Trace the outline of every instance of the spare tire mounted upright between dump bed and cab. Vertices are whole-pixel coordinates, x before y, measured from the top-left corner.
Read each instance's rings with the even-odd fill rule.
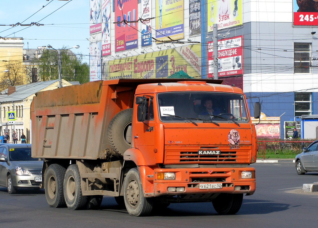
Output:
[[[133,109],[128,108],[117,113],[108,125],[108,141],[113,151],[123,156],[131,148],[131,123]]]

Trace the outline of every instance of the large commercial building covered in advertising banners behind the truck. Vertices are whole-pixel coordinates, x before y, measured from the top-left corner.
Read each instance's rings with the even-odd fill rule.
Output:
[[[280,117],[286,138],[286,122],[301,132],[301,116],[318,114],[315,9],[312,0],[90,1],[90,80],[165,78],[179,70],[213,79],[218,24],[219,79],[259,97],[266,116]]]

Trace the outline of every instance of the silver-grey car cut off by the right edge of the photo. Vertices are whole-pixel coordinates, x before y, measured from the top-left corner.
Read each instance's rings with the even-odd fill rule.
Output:
[[[312,142],[302,153],[295,157],[297,174],[303,175],[308,171],[318,171],[318,140]]]

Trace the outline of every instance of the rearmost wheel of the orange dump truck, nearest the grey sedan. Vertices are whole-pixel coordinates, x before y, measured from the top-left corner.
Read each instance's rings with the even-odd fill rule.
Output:
[[[63,182],[66,169],[59,164],[50,165],[45,172],[45,197],[50,207],[65,207]]]

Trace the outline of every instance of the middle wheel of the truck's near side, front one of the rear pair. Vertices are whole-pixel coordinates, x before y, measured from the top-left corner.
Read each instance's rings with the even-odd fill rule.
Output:
[[[87,197],[82,195],[79,168],[75,164],[70,165],[66,169],[64,178],[64,196],[66,206],[70,210],[82,209],[87,203]]]

